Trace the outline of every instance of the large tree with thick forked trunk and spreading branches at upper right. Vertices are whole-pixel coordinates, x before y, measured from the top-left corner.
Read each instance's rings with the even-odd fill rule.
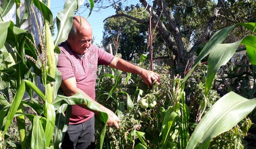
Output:
[[[95,4],[99,10],[110,6],[116,9],[116,14],[105,20],[126,17],[147,26],[148,19],[137,18],[127,12],[138,9],[140,5],[147,12],[152,8],[152,28],[156,27],[170,54],[175,56],[177,68],[184,68],[188,60],[193,63],[197,47],[204,45],[217,30],[231,23],[255,20],[255,0],[155,0],[152,5],[140,0],[140,4],[126,7],[121,0],[110,1],[109,6],[104,7],[102,2],[98,0]]]

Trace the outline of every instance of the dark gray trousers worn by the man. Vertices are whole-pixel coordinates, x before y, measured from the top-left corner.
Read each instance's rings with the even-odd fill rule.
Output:
[[[69,124],[60,149],[92,149],[95,148],[94,115],[86,122]]]

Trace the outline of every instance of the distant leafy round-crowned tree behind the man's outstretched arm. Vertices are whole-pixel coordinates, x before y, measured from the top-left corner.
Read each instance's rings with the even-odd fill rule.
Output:
[[[147,12],[136,13],[132,11],[128,14],[141,19],[147,17]],[[148,28],[145,24],[140,25],[136,21],[126,17],[110,18],[105,22],[102,40],[103,46],[113,43],[112,38],[116,38],[119,29],[121,29],[119,35],[120,46],[117,52],[122,54],[122,58],[131,60],[133,59],[134,53],[143,54],[145,43],[147,42],[145,39],[147,39]],[[113,50],[116,50],[115,47],[113,47]]]

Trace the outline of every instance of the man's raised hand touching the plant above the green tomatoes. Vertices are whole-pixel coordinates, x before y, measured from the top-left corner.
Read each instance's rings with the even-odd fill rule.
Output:
[[[154,82],[160,83],[160,76],[153,71],[142,69],[140,72],[142,80],[149,86],[152,87]]]

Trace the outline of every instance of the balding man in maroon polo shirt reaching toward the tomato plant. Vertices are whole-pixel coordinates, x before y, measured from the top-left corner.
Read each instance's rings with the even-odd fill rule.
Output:
[[[97,66],[108,65],[124,72],[139,74],[148,86],[151,86],[153,82],[160,82],[160,76],[114,57],[91,43],[92,28],[90,24],[81,17],[80,27],[80,17],[73,17],[73,26],[69,32],[68,40],[60,44],[61,53],[57,64],[62,73],[60,87],[66,96],[72,96],[78,92],[83,93],[108,114],[107,126],[114,125],[118,129],[120,121],[116,114],[95,101]],[[62,149],[95,148],[94,113],[97,114],[95,111],[89,111],[85,103],[72,106],[72,115],[61,145]]]

